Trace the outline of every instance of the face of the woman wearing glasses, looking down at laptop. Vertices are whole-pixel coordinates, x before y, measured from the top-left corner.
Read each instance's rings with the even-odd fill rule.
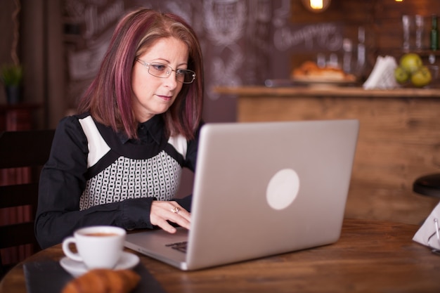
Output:
[[[138,57],[131,72],[132,105],[138,122],[145,122],[154,115],[164,113],[176,100],[182,83],[176,80],[176,72],[160,78],[148,73],[142,63],[161,63],[176,69],[187,69],[188,47],[175,38],[159,39]]]

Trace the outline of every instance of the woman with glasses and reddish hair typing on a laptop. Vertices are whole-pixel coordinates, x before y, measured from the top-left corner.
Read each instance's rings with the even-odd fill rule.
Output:
[[[182,168],[195,170],[202,76],[200,44],[181,18],[145,8],[122,18],[41,171],[41,247],[82,226],[190,227],[191,197],[174,195]]]

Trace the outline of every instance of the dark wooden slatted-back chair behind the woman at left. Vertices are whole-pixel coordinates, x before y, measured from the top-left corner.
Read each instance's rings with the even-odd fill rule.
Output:
[[[0,249],[9,259],[8,262],[4,257],[2,261],[0,254],[0,277],[40,250],[34,234],[38,181],[51,150],[54,132],[0,132]]]

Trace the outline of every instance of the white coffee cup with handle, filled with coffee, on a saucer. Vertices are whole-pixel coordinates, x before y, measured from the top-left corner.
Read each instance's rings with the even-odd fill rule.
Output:
[[[124,249],[126,231],[115,226],[90,226],[75,231],[63,241],[64,254],[87,268],[114,268]],[[78,253],[70,250],[75,243]]]

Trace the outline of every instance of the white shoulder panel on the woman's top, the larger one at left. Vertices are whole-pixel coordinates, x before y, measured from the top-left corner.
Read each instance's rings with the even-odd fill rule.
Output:
[[[79,119],[79,123],[88,141],[89,155],[87,156],[87,168],[90,168],[110,150],[110,147],[105,143],[91,116]]]

